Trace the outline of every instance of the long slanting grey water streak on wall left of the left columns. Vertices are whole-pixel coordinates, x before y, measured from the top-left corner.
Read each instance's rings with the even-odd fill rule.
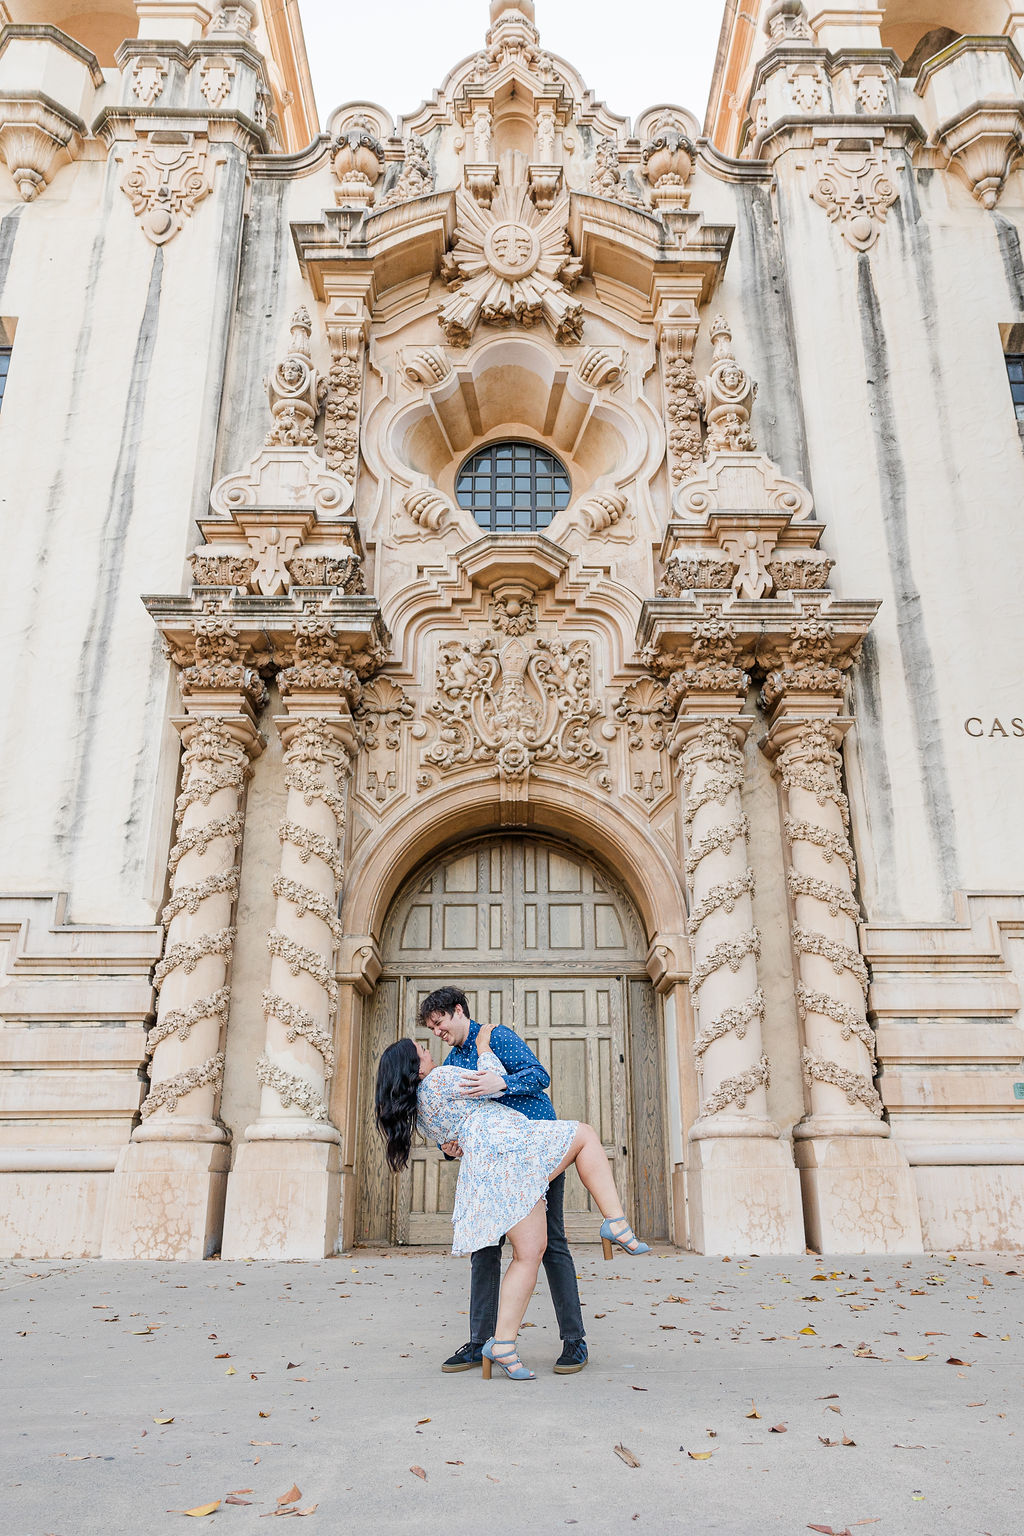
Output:
[[[106,670],[111,660],[111,630],[121,593],[121,576],[124,561],[124,541],[135,507],[135,472],[138,467],[138,452],[143,439],[143,422],[146,419],[146,395],[149,376],[157,346],[157,329],[160,321],[160,290],[163,283],[164,257],[163,247],[154,250],[154,264],[149,275],[149,290],[146,306],[135,341],[132,358],[132,373],[124,404],[124,419],[121,425],[121,444],[114,468],[111,485],[111,501],[100,533],[100,551],[103,564],[98,574],[97,596],[89,613],[86,639],[81,650],[81,662],[75,679],[75,697],[86,717],[97,710],[97,700],[103,690]],[[57,840],[64,842],[78,826],[89,797],[89,779],[92,770],[92,751],[95,745],[94,733],[80,739],[72,768],[72,786],[68,796],[66,811],[60,819]]]

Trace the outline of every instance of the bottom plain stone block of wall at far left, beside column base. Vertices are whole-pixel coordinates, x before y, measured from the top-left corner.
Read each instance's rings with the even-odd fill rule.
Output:
[[[98,1258],[111,1172],[0,1175],[0,1258]]]

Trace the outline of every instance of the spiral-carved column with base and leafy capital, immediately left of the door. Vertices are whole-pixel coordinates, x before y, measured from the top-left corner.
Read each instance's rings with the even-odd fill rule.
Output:
[[[273,882],[256,1061],[259,1117],[246,1130],[227,1193],[226,1258],[324,1258],[338,1241],[341,1135],[329,1118],[342,937],[345,796],[359,680],[330,621],[302,621],[293,665],[279,674],[289,713],[276,720],[289,790]]]

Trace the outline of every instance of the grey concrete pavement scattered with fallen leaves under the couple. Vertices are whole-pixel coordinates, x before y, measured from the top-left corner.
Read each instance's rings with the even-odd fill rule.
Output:
[[[542,1286],[522,1385],[441,1375],[438,1252],[9,1263],[0,1528],[1024,1531],[1024,1255],[577,1261],[591,1366],[551,1373]]]

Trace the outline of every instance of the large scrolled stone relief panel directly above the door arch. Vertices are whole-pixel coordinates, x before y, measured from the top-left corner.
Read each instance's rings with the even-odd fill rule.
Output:
[[[588,771],[603,762],[590,734],[600,714],[590,641],[445,641],[427,713],[439,731],[424,760],[444,771],[490,763],[502,782],[525,782],[540,763]]]

